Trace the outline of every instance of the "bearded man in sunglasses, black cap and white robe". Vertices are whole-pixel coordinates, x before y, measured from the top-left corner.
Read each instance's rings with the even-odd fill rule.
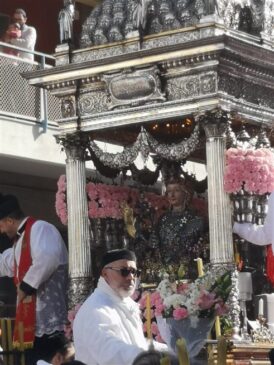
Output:
[[[136,256],[126,249],[109,251],[101,267],[98,286],[74,321],[76,359],[87,365],[130,365],[148,349],[139,307],[130,298],[139,275]],[[158,342],[154,345],[168,350]]]

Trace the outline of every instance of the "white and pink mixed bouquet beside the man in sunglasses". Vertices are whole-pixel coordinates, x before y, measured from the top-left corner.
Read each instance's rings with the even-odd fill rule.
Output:
[[[193,283],[172,283],[166,276],[157,287],[153,309],[156,316],[175,320],[224,315],[230,290],[230,271],[208,271]]]

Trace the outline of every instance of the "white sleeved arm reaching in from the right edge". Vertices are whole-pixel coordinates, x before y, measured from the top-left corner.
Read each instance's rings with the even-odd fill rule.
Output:
[[[255,245],[272,244],[274,252],[274,193],[268,200],[268,213],[263,226],[251,223],[234,223],[233,232]]]

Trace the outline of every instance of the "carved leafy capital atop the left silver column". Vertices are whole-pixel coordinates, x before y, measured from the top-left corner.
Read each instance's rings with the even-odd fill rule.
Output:
[[[85,160],[86,148],[89,144],[89,137],[82,132],[73,134],[65,134],[55,136],[57,143],[59,143],[65,150],[69,160]]]

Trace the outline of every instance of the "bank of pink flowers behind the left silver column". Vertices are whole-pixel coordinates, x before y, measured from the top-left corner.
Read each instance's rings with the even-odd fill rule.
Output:
[[[67,204],[66,204],[66,176],[60,176],[56,193],[55,208],[58,217],[63,224],[67,224]],[[140,192],[128,186],[115,186],[107,184],[95,184],[88,182],[86,185],[88,197],[89,218],[113,218],[122,219],[124,202],[134,208],[140,200]],[[168,201],[164,196],[145,192],[144,199],[152,206],[157,216],[160,216],[168,207]]]

